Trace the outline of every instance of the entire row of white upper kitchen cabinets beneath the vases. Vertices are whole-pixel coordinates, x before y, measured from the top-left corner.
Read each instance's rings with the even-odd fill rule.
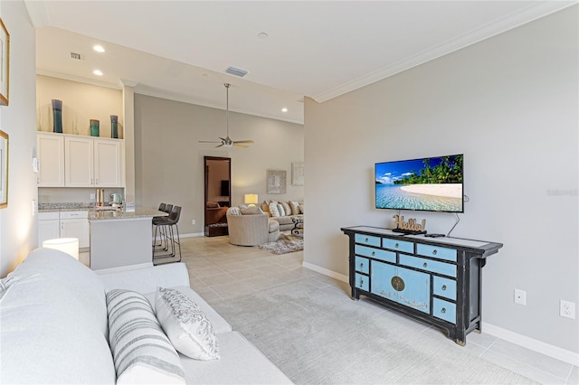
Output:
[[[41,187],[121,187],[122,140],[39,133]]]

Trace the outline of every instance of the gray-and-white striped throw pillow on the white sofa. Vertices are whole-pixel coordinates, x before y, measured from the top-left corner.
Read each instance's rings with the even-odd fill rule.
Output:
[[[179,354],[163,333],[147,298],[130,290],[110,290],[107,310],[117,384],[185,384]]]

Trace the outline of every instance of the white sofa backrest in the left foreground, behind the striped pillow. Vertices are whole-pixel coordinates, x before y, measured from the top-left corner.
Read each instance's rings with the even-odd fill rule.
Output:
[[[104,286],[90,268],[62,251],[36,249],[8,277],[1,383],[115,382]]]

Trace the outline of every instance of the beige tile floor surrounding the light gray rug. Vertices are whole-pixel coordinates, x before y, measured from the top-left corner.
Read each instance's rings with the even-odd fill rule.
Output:
[[[348,284],[302,268],[302,251],[276,256],[259,248],[233,246],[227,237],[181,239],[181,248],[191,286],[209,304],[299,280],[315,279],[349,293]],[[368,305],[374,303],[368,301]],[[486,333],[470,333],[467,341],[465,349],[531,380],[579,384],[577,366]]]

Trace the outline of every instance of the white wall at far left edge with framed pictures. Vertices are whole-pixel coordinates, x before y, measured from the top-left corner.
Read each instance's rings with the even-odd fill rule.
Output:
[[[10,104],[0,107],[0,129],[9,136],[8,207],[0,210],[0,277],[36,247],[36,145],[34,28],[22,1],[2,2],[0,16],[10,33]]]

